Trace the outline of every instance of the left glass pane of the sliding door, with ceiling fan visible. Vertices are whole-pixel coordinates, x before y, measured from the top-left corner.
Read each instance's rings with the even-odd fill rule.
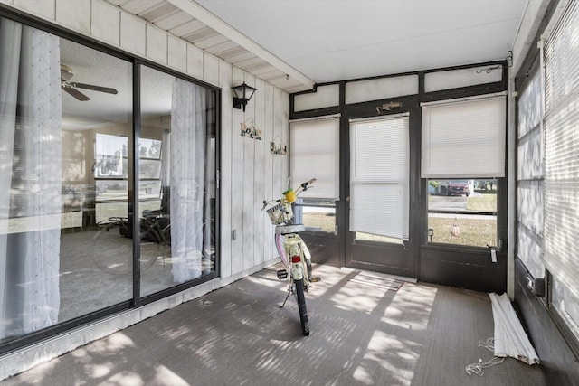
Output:
[[[126,61],[5,18],[0,31],[5,343],[132,296],[129,274],[111,275],[97,264],[102,254],[132,255],[119,231],[97,237],[101,220],[128,217],[122,148],[103,138],[130,135],[132,88]],[[118,94],[68,80],[114,85]]]

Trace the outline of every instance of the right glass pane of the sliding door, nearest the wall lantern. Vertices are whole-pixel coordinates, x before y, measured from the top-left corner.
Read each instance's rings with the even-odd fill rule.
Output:
[[[214,94],[143,67],[141,295],[214,272]]]

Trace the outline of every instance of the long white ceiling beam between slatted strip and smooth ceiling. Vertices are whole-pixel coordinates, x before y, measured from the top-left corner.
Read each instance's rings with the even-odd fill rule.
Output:
[[[241,45],[244,49],[249,52],[253,52],[256,56],[260,57],[262,60],[267,61],[272,66],[276,67],[280,71],[285,72],[290,78],[298,80],[301,84],[306,86],[308,89],[314,89],[316,82],[310,80],[306,75],[302,74],[298,70],[291,67],[285,61],[280,60],[277,56],[261,47],[256,42],[253,42],[250,38],[240,33],[234,29],[231,25],[226,24],[220,18],[211,14],[201,5],[198,5],[193,0],[167,0],[168,3],[175,5],[187,14],[195,17],[195,19],[203,22],[208,27],[214,29],[216,32],[223,34],[227,38],[231,39],[233,42]]]

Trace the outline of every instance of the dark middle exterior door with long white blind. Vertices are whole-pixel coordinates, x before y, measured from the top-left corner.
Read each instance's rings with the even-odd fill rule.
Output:
[[[349,120],[347,267],[415,277],[410,113]]]

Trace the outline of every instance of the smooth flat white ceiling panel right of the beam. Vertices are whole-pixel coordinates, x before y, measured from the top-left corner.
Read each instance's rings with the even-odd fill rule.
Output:
[[[321,83],[503,60],[532,1],[538,0],[196,3]]]

